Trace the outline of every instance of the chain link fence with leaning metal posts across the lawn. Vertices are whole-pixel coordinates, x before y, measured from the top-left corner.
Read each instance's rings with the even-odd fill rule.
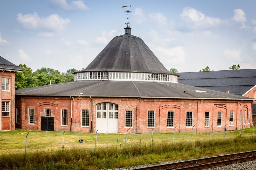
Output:
[[[86,148],[97,149],[101,147],[125,148],[131,145],[151,147],[157,143],[194,142],[196,140],[228,140],[236,138],[243,133],[244,137],[254,137],[254,127],[246,132],[209,132],[209,133],[154,133],[149,129],[147,134],[126,133],[82,133],[67,131],[6,131],[0,133],[0,154],[27,153],[27,152],[52,152],[58,149]],[[113,130],[114,131],[114,130]]]

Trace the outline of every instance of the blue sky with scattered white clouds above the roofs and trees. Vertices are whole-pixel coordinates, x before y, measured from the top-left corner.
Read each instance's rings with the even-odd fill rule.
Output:
[[[33,72],[86,68],[127,22],[124,0],[0,0],[0,56]],[[256,68],[255,0],[130,0],[131,33],[167,70]]]

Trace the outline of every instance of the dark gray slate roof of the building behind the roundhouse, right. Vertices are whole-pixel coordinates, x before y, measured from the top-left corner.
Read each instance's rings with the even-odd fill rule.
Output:
[[[256,85],[256,69],[177,73],[179,83],[244,95]]]

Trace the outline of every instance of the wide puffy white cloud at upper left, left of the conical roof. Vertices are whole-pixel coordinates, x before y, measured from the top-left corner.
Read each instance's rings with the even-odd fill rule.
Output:
[[[17,15],[17,20],[24,27],[29,29],[49,29],[52,31],[62,31],[70,23],[70,19],[63,19],[58,14],[52,14],[46,18],[40,18],[36,12],[34,14]]]

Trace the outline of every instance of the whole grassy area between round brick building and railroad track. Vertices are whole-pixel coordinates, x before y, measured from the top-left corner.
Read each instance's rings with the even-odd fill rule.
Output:
[[[27,154],[25,142],[27,138]],[[240,131],[210,134],[154,133],[151,134],[97,134],[64,133],[60,131],[0,132],[0,169],[109,169],[163,161],[196,159],[213,155],[245,152],[256,149],[252,128]],[[83,143],[78,143],[83,139]]]

